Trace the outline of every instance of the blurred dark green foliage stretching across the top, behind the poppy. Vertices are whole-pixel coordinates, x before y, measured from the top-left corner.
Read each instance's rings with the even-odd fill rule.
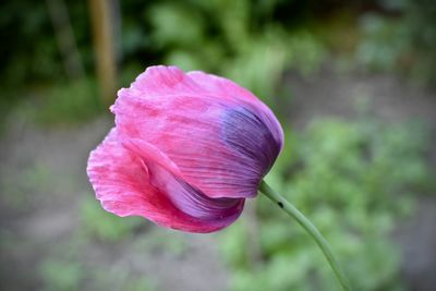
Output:
[[[88,7],[84,1],[64,2],[88,75],[94,72]],[[120,1],[121,34],[117,48],[121,74],[132,72],[132,66],[137,73],[155,63],[205,70],[250,87],[274,105],[277,84],[286,70],[308,74],[327,59],[332,47],[340,45],[354,51],[351,64],[355,61],[370,70],[403,72],[421,83],[435,83],[434,1],[335,3],[331,5],[328,0]],[[68,84],[71,81],[62,65],[47,2],[10,1],[0,8],[0,34],[8,39],[0,48],[2,110],[20,96],[28,96],[26,90],[34,90],[35,84],[47,87],[48,95],[63,95],[49,88],[52,84],[69,92],[82,86]],[[96,95],[88,89],[81,96]],[[72,102],[77,102],[77,98],[82,97],[73,98]],[[47,110],[64,111],[62,104],[58,109],[51,108],[51,100],[47,102]],[[82,117],[78,114],[76,119]],[[57,119],[47,117],[47,120]]]

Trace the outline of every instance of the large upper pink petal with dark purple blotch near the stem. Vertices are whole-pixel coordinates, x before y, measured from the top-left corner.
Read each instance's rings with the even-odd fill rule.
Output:
[[[281,128],[245,89],[198,76],[147,69],[111,108],[119,134],[154,145],[209,197],[253,197],[281,150]]]

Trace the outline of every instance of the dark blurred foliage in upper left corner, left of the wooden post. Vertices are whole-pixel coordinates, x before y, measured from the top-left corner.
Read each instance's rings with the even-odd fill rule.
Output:
[[[87,5],[85,2],[65,2],[78,46],[89,65],[88,17],[84,16]],[[19,86],[65,76],[45,1],[8,2],[1,5],[0,15],[0,34],[9,43],[0,48],[4,62],[0,69],[2,84]]]

